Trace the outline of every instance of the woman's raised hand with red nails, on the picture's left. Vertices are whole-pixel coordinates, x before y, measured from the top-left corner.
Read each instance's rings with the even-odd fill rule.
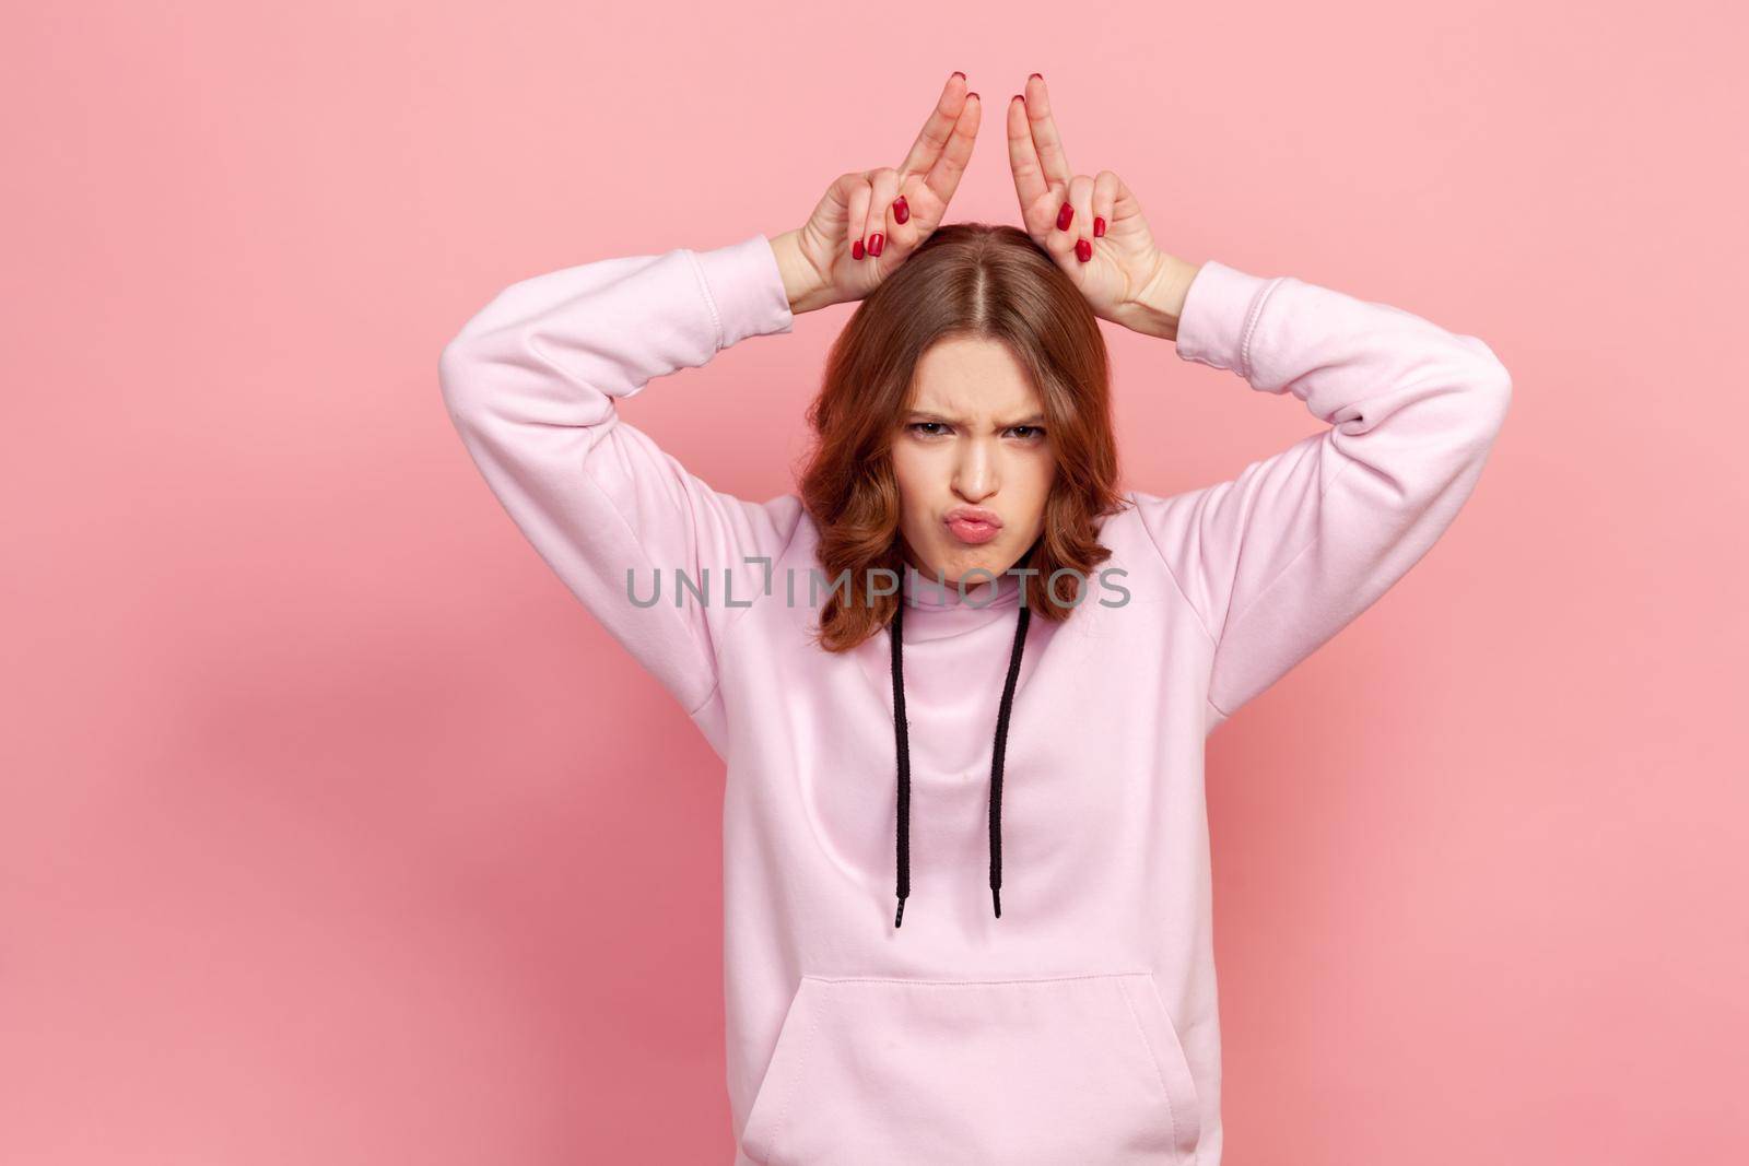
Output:
[[[792,313],[862,299],[941,226],[972,156],[978,114],[978,94],[953,73],[897,170],[840,175],[806,224],[771,239]]]

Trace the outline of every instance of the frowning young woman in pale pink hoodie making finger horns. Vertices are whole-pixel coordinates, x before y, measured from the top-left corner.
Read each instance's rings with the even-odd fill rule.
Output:
[[[1007,107],[1025,231],[943,226],[979,103],[806,226],[511,285],[449,414],[553,570],[728,764],[736,1163],[1221,1159],[1203,739],[1452,523],[1511,386],[1480,339],[1160,250]],[[798,493],[714,491],[616,400],[862,302]],[[1097,320],[1327,425],[1118,488]]]

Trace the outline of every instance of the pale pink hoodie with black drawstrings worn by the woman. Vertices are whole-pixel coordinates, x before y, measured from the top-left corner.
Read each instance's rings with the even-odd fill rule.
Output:
[[[983,603],[906,577],[911,899],[894,927],[890,629],[845,654],[810,645],[831,580],[801,500],[717,493],[614,411],[791,325],[752,236],[514,283],[441,362],[505,510],[728,766],[736,1166],[1217,1166],[1203,741],[1452,523],[1506,414],[1506,369],[1397,308],[1205,262],[1179,357],[1293,393],[1329,428],[1226,482],[1126,495],[1086,600],[1030,621],[1000,918],[993,729],[1021,587],[999,577]]]

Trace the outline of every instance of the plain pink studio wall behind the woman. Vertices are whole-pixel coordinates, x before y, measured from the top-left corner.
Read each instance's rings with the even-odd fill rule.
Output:
[[[1219,10],[1212,10],[1219,9]],[[1030,70],[1186,259],[1487,339],[1443,544],[1210,741],[1228,1163],[1749,1159],[1725,3],[9,16],[0,1161],[728,1161],[721,767],[449,428],[505,283],[798,226]],[[789,488],[848,308],[628,406]],[[1130,482],[1317,423],[1107,332]]]

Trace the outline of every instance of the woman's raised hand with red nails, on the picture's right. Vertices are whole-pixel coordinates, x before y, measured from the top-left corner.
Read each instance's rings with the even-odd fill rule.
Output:
[[[1142,205],[1123,178],[1109,170],[1090,178],[1069,168],[1039,73],[1007,103],[1007,163],[1027,234],[1069,273],[1093,315],[1177,337],[1198,267],[1154,245]]]

